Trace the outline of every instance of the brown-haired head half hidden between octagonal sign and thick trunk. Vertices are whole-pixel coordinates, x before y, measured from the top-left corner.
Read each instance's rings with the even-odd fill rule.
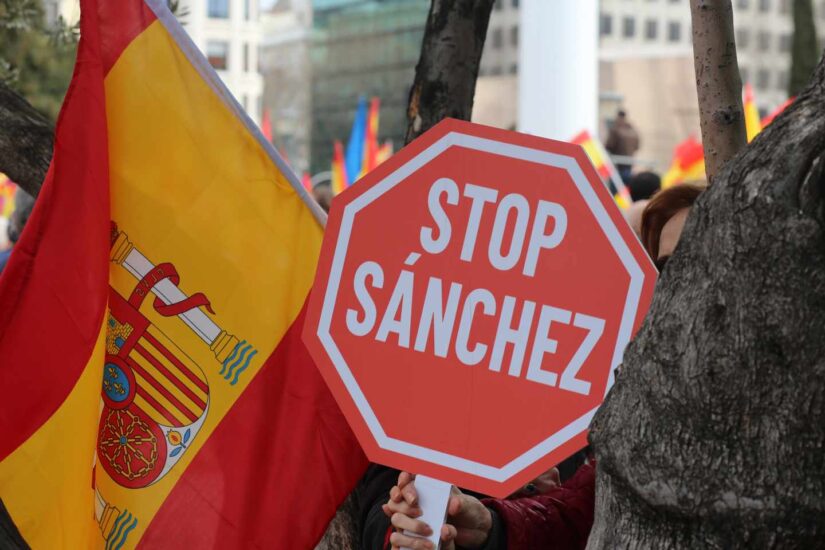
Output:
[[[683,183],[660,191],[642,214],[642,244],[659,271],[670,258],[690,208],[705,190],[703,185]]]

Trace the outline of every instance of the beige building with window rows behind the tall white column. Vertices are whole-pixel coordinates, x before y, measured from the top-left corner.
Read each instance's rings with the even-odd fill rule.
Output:
[[[787,98],[792,0],[733,0],[742,79],[766,114]],[[476,88],[473,119],[514,128],[518,117],[519,0],[497,0]],[[825,3],[815,2],[825,31]],[[642,135],[637,158],[664,170],[673,147],[699,135],[689,0],[602,0],[599,90],[602,137],[624,106]]]

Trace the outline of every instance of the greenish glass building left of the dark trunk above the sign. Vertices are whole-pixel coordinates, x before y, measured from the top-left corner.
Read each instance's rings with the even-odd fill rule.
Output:
[[[400,148],[429,2],[313,0],[313,11],[313,173],[329,170],[333,140],[349,137],[359,96],[381,99],[378,137]]]

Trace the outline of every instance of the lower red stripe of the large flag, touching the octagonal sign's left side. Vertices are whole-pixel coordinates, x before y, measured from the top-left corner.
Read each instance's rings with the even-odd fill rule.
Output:
[[[321,537],[367,461],[301,341],[303,323],[302,312],[266,363],[250,364],[255,377],[140,547],[312,548]],[[198,528],[181,529],[181,518]]]

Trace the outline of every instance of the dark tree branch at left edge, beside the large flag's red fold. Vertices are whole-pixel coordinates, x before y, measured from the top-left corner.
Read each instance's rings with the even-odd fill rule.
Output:
[[[36,197],[52,158],[51,123],[0,82],[0,172]]]

